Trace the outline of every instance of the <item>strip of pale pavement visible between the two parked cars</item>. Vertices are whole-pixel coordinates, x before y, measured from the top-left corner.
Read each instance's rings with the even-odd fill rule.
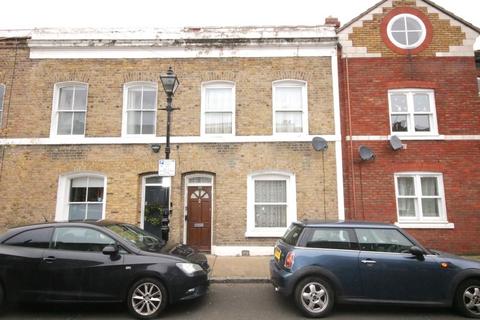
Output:
[[[269,282],[269,262],[271,256],[225,257],[207,255],[210,265],[210,281],[229,282]]]

